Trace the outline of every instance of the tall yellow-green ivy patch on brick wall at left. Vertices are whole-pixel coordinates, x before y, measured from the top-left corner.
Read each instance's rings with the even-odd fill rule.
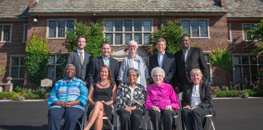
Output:
[[[33,32],[29,42],[26,42],[26,68],[28,80],[40,86],[40,80],[46,78],[49,65],[49,54],[46,34],[43,36]]]

